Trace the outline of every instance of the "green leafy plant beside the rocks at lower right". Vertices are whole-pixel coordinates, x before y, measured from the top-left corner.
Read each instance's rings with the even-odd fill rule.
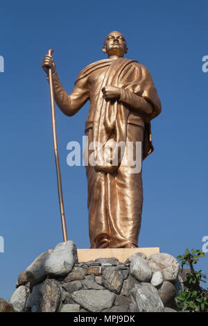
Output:
[[[191,252],[186,249],[184,255],[177,256],[182,270],[184,265],[190,268],[187,280],[183,282],[184,290],[179,291],[176,298],[176,304],[182,310],[204,312],[208,309],[208,291],[200,286],[200,282],[206,282],[207,276],[202,274],[202,271],[197,272],[193,268],[200,257],[205,257],[205,253],[194,249],[191,249]]]

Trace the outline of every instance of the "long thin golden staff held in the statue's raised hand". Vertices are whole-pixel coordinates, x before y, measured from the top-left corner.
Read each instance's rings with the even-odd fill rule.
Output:
[[[49,55],[52,55],[53,50],[49,50]],[[54,91],[53,91],[53,79],[52,79],[52,69],[49,68],[49,85],[50,85],[50,93],[51,93],[51,114],[52,114],[52,126],[53,126],[53,146],[55,153],[55,166],[56,166],[56,174],[57,174],[57,182],[58,182],[58,198],[60,205],[60,214],[62,221],[62,232],[64,241],[67,241],[67,225],[64,213],[64,202],[63,202],[63,194],[62,194],[62,180],[60,173],[60,162],[58,156],[58,144],[57,144],[57,135],[56,135],[56,126],[55,126],[55,104],[54,104]]]

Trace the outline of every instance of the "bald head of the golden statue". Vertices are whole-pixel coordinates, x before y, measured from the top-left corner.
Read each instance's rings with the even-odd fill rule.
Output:
[[[117,31],[112,31],[105,37],[103,52],[110,55],[119,55],[123,57],[128,52],[125,37]]]

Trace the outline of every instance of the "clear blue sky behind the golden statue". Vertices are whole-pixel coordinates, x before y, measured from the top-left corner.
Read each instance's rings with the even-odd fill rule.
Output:
[[[148,67],[162,101],[153,121],[155,152],[144,161],[139,246],[181,255],[202,248],[207,228],[208,55],[206,0],[1,1],[0,297],[41,252],[62,241],[51,133],[49,85],[41,61],[49,49],[67,92],[79,71],[105,58],[112,30],[128,41],[128,58]],[[84,166],[67,166],[67,143],[81,141],[89,104],[73,117],[56,107],[69,239],[89,248]],[[208,270],[208,255],[198,268]]]

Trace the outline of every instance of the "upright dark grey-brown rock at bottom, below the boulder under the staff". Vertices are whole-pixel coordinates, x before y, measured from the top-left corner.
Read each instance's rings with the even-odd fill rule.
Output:
[[[58,311],[62,297],[60,284],[53,279],[46,279],[40,287],[40,312]]]

